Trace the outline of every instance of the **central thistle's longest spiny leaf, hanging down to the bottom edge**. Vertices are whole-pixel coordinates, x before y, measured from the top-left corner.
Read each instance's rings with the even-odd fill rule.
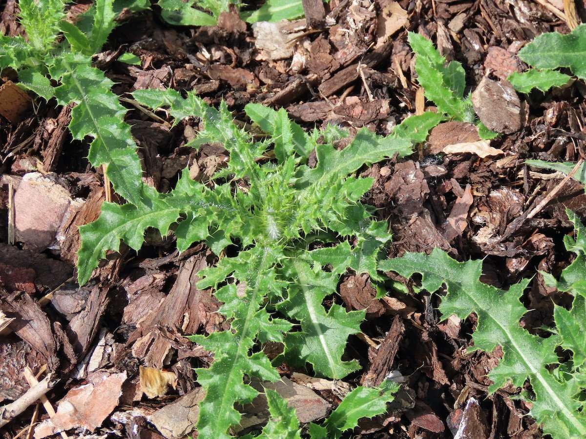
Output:
[[[218,290],[216,296],[224,302],[220,312],[233,318],[230,331],[214,332],[207,337],[192,335],[190,340],[215,353],[214,362],[208,369],[196,369],[197,381],[206,390],[199,403],[197,432],[201,437],[227,438],[230,426],[240,422],[241,414],[234,403],[250,403],[258,392],[244,384],[244,375],[261,380],[277,381],[279,374],[272,368],[263,352],[250,354],[254,338],[261,331],[260,322],[269,319],[267,310],[261,307],[267,289],[279,288],[274,283],[270,268],[280,258],[278,251],[255,246],[240,252],[235,258],[224,258],[222,267],[202,270],[203,280],[199,287],[216,284],[223,275],[232,276],[241,285],[230,284]],[[290,328],[290,326],[289,326]],[[279,328],[272,329],[274,339],[282,340]]]

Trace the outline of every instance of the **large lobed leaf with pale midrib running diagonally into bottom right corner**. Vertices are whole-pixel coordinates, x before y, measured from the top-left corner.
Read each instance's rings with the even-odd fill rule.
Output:
[[[421,273],[421,287],[428,291],[437,291],[445,284],[447,294],[440,305],[442,318],[452,314],[466,318],[476,313],[474,348],[492,352],[500,346],[503,350],[498,366],[489,372],[493,380],[489,392],[509,382],[520,387],[529,379],[535,395],[530,414],[543,423],[545,433],[557,438],[586,434],[586,417],[580,411],[582,403],[574,398],[577,387],[570,381],[560,382],[548,371],[549,365],[558,362],[557,337],[540,338],[519,325],[527,312],[519,298],[529,280],[522,280],[508,291],[500,290],[480,282],[482,260],[457,262],[438,248],[431,255],[406,253],[401,258],[384,260],[379,268],[405,277]]]

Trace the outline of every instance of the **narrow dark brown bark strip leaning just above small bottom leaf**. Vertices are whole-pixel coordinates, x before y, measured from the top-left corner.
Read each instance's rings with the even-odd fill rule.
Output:
[[[379,349],[377,349],[374,360],[370,363],[368,370],[360,379],[361,386],[374,387],[383,382],[393,365],[404,331],[405,326],[401,321],[401,317],[395,315],[389,332],[384,336],[383,342],[379,345]]]

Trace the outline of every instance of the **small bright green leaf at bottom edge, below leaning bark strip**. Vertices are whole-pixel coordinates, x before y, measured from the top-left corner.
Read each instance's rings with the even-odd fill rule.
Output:
[[[397,390],[395,383],[389,383],[382,389],[356,387],[323,423],[328,437],[338,439],[342,433],[356,427],[360,419],[372,418],[387,411],[387,403],[394,399],[393,394]]]

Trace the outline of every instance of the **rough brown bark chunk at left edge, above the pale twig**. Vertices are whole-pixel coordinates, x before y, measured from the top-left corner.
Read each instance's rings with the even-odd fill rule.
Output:
[[[49,371],[55,371],[59,366],[59,342],[54,337],[49,318],[39,304],[26,293],[8,294],[0,291],[0,308],[8,317],[15,318],[11,324],[15,334],[43,355]]]

